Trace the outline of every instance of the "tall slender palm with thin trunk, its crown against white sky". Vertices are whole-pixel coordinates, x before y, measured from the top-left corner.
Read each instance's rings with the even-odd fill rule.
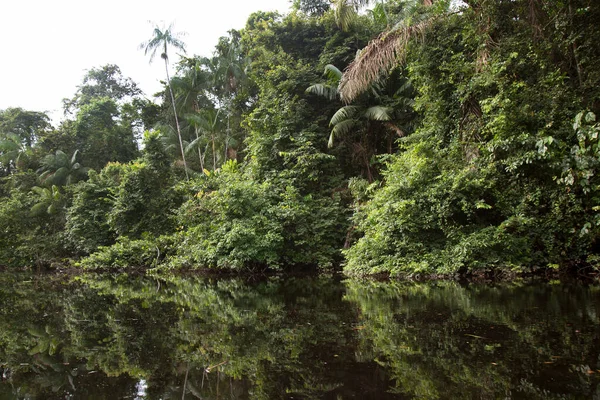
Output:
[[[173,89],[171,88],[171,79],[169,77],[169,56],[167,53],[168,47],[173,46],[180,49],[185,53],[185,43],[179,39],[182,33],[175,33],[172,31],[173,24],[169,25],[167,29],[160,29],[157,25],[154,26],[153,36],[147,42],[140,45],[140,49],[144,50],[144,54],[150,53],[150,62],[154,59],[156,52],[160,49],[160,58],[165,61],[165,72],[167,75],[167,87],[171,94],[171,102],[173,104],[173,113],[175,114],[175,126],[177,127],[177,135],[179,136],[179,147],[181,149],[181,158],[183,159],[183,168],[185,170],[185,176],[189,179],[187,172],[187,164],[185,162],[185,151],[183,149],[183,140],[181,139],[181,129],[179,128],[179,119],[177,117],[177,107],[175,106],[175,96],[173,95]]]

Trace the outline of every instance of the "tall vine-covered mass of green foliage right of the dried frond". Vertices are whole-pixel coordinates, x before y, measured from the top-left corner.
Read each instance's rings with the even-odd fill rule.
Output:
[[[517,3],[449,15],[409,48],[423,120],[355,215],[348,273],[522,271],[594,251],[597,126],[582,113],[573,130],[586,99],[551,57],[562,39],[532,46]]]

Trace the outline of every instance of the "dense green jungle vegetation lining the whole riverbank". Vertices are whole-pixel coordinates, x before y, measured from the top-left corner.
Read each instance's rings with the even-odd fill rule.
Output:
[[[105,65],[58,126],[0,110],[0,266],[597,270],[599,23],[595,0],[296,0],[210,57],[156,27],[157,101]]]

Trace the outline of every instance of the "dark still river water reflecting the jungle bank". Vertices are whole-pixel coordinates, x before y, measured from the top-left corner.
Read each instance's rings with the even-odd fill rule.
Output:
[[[0,275],[1,399],[600,399],[600,288]]]

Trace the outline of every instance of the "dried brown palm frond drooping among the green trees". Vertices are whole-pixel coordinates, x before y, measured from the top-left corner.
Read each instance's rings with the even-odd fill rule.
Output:
[[[339,91],[342,100],[351,102],[385,72],[404,62],[406,48],[415,39],[423,39],[436,18],[414,25],[400,26],[372,40],[346,68]]]

